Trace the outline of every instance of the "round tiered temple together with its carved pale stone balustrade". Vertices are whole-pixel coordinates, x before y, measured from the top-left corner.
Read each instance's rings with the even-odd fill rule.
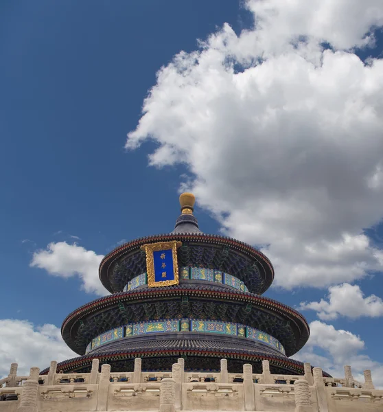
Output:
[[[371,371],[334,378],[292,360],[309,337],[296,310],[262,296],[274,270],[235,239],[207,235],[181,194],[171,233],[105,256],[111,295],[74,310],[78,357],[0,377],[0,412],[382,412]],[[359,378],[357,376],[357,378]]]

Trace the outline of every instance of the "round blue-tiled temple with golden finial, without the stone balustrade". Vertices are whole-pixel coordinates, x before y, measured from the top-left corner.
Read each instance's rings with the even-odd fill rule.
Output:
[[[63,339],[79,356],[58,371],[89,372],[93,359],[132,371],[137,357],[144,371],[170,371],[178,358],[187,371],[218,371],[226,358],[229,372],[244,363],[261,372],[268,360],[272,373],[303,374],[303,363],[290,356],[305,345],[309,326],[297,310],[262,296],[274,279],[270,260],[239,240],[203,233],[194,202],[181,194],[171,233],[105,256],[99,275],[111,295],[62,323]]]

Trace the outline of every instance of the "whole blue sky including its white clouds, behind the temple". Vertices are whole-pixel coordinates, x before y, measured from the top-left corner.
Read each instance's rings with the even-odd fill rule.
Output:
[[[277,285],[266,296],[307,302],[314,337],[300,356],[328,368],[341,349],[325,341],[339,338],[351,342],[350,359],[382,370],[383,35],[371,29],[383,25],[382,4],[356,6],[354,21],[340,0],[324,11],[316,1],[304,10],[265,3],[279,17],[257,1],[1,2],[0,323],[2,341],[20,341],[0,347],[1,363],[16,357],[30,367],[41,345],[54,356],[62,343],[51,325],[60,328],[98,296],[83,284],[94,289],[101,255],[171,231],[185,185],[196,192],[202,231],[270,256]],[[301,13],[319,21],[321,12],[331,16],[324,27],[294,23]],[[258,31],[253,13],[264,22]],[[369,47],[367,32],[375,36]],[[297,34],[308,40],[297,45]],[[376,67],[357,56],[377,59]],[[273,120],[261,122],[270,110]],[[312,304],[331,293],[330,308]],[[367,300],[350,316],[342,308],[353,297]],[[318,318],[323,308],[327,319]],[[36,352],[25,350],[21,334],[36,339]]]

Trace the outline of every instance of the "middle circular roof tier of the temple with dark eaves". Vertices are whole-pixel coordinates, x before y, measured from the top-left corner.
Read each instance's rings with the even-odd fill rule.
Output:
[[[185,312],[183,297],[190,303]],[[278,339],[291,356],[306,343],[310,330],[305,318],[279,302],[220,286],[179,284],[120,292],[86,304],[67,316],[62,337],[72,350],[84,354],[86,345],[98,334],[130,322],[153,319],[154,302],[163,303],[163,317],[216,318],[263,330]],[[194,311],[198,304],[199,316]],[[222,312],[222,304],[227,306]],[[157,318],[158,319],[158,318]]]

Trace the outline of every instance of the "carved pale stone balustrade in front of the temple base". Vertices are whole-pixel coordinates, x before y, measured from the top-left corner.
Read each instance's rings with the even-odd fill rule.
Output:
[[[226,359],[216,373],[186,372],[184,363],[180,358],[172,371],[143,372],[136,358],[134,371],[111,373],[94,359],[90,373],[62,374],[52,361],[47,375],[32,367],[29,376],[18,376],[14,363],[0,380],[0,412],[383,411],[383,391],[374,389],[369,370],[358,382],[349,366],[345,377],[327,378],[308,363],[302,376],[271,374],[268,361],[262,374],[249,364],[231,374]]]

